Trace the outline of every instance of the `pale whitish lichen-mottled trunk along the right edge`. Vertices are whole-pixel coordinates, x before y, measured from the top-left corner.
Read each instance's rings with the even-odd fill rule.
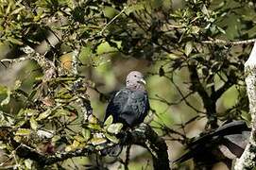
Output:
[[[251,133],[243,155],[235,162],[235,170],[253,169],[256,166],[256,42],[245,63],[245,74],[251,114]]]

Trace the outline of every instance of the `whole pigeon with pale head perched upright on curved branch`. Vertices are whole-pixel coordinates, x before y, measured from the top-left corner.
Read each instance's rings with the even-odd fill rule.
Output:
[[[124,127],[135,127],[144,122],[148,110],[144,76],[138,71],[132,71],[127,76],[126,87],[111,97],[105,120],[112,115],[113,123],[123,123]]]

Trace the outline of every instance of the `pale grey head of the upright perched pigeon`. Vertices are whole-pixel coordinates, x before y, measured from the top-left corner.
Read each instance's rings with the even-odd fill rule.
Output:
[[[145,79],[141,72],[132,71],[127,76],[127,88],[145,90]]]

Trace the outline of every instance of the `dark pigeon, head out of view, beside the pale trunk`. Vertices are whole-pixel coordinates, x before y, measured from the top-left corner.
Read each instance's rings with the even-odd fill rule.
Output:
[[[174,162],[194,159],[200,165],[211,169],[215,162],[223,161],[230,168],[232,160],[243,154],[249,134],[250,128],[246,122],[230,122],[196,138],[188,144],[189,151]]]

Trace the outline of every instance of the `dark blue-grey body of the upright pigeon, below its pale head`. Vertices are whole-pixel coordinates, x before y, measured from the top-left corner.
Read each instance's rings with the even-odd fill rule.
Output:
[[[124,88],[111,97],[105,120],[112,115],[113,122],[134,127],[142,123],[149,110],[147,93],[141,90]]]

